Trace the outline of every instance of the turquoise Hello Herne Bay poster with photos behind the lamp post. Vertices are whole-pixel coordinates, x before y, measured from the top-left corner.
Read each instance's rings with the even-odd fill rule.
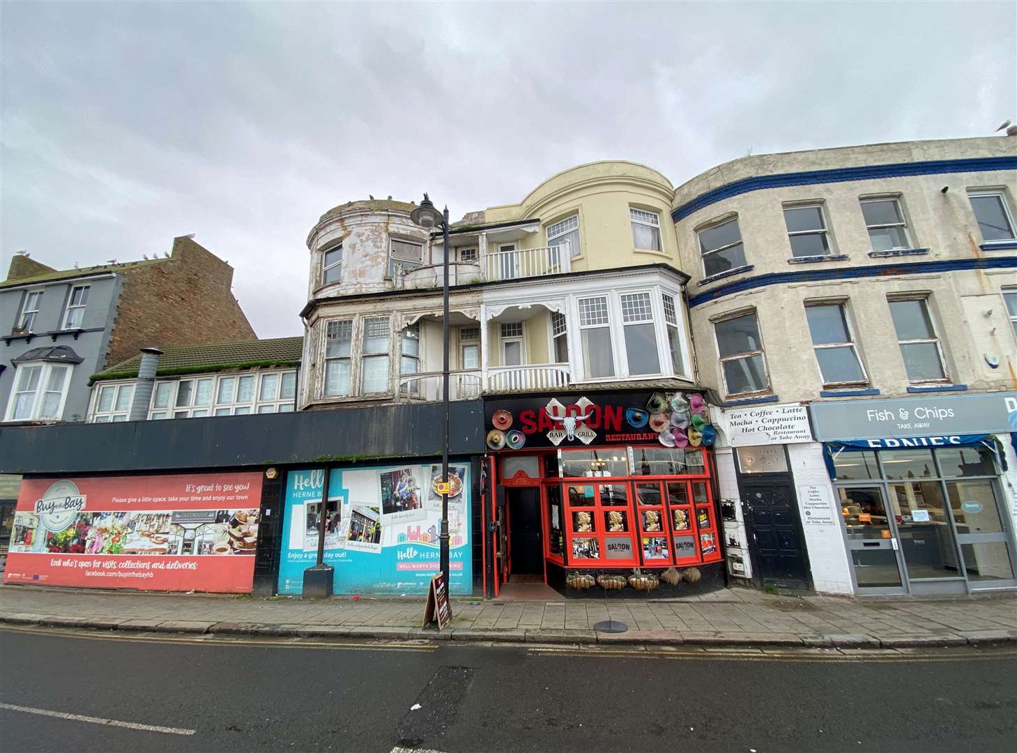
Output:
[[[335,592],[427,593],[440,555],[441,510],[428,494],[434,467],[402,463],[330,473],[324,562],[336,569]],[[470,466],[454,464],[450,475],[462,479],[448,496],[450,591],[468,595],[473,591]],[[304,571],[317,562],[323,488],[322,469],[287,474],[280,593],[301,593]]]

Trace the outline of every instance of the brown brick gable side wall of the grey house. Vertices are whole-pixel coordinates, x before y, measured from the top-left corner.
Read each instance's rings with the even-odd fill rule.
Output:
[[[120,275],[123,289],[106,366],[146,346],[257,338],[233,297],[233,268],[190,238],[173,239],[167,264],[124,270]]]

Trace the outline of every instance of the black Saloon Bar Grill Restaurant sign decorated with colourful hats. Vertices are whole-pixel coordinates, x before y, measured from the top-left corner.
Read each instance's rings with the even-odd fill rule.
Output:
[[[702,396],[591,393],[494,400],[484,406],[490,450],[633,443],[712,444]]]

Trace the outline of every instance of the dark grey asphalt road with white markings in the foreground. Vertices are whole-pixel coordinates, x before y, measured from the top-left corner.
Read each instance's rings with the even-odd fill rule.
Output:
[[[5,753],[1017,749],[1012,650],[830,658],[0,630],[0,651]]]

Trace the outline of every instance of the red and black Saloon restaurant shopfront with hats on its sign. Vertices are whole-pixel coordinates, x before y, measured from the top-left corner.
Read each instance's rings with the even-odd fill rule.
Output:
[[[485,418],[489,594],[506,583],[597,597],[723,586],[702,397],[488,401]]]

